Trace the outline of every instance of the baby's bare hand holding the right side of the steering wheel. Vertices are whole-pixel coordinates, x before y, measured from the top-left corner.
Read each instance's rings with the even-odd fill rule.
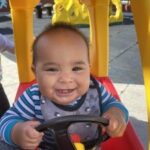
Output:
[[[102,117],[109,120],[108,127],[103,128],[103,131],[106,131],[111,137],[121,137],[123,135],[127,123],[124,114],[120,109],[112,107],[105,112]]]

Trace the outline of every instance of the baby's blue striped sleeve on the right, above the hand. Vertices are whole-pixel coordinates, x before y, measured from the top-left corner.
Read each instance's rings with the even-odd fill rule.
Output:
[[[117,107],[123,112],[125,120],[127,122],[129,118],[129,113],[126,107],[118,99],[113,97],[101,83],[99,83],[99,88],[101,92],[100,104],[102,105],[102,113],[106,112],[111,107]]]

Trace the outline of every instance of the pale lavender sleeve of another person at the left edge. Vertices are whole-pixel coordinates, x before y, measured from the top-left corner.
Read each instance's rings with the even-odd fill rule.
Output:
[[[6,36],[0,34],[0,52],[3,51],[14,53],[14,42],[9,40]]]

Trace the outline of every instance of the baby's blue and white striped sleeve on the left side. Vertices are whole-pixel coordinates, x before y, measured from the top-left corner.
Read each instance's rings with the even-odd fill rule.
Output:
[[[8,144],[14,145],[11,140],[11,132],[15,124],[33,120],[34,116],[34,103],[28,89],[0,119],[0,138]]]

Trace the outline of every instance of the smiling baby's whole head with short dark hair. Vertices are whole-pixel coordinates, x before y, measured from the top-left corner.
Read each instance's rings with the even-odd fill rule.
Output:
[[[90,83],[87,39],[68,24],[49,25],[33,43],[33,71],[42,95],[67,105]]]

